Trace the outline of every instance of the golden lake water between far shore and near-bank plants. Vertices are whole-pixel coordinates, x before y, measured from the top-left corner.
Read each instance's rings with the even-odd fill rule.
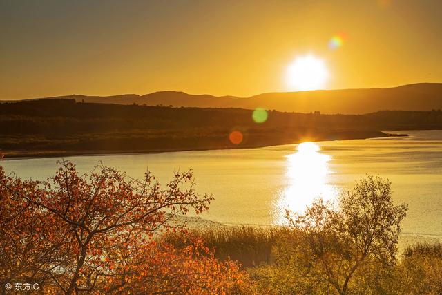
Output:
[[[442,131],[397,131],[409,137],[288,144],[258,149],[67,157],[79,171],[99,161],[135,178],[148,168],[160,182],[192,168],[198,191],[215,200],[202,217],[228,224],[274,225],[285,208],[336,198],[365,174],[392,182],[394,200],[409,206],[404,234],[442,236]],[[6,171],[44,180],[57,158],[3,160]]]

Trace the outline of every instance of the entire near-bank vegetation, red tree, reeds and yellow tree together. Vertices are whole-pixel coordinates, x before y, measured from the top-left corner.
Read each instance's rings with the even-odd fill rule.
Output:
[[[367,176],[337,203],[287,211],[282,227],[186,229],[208,209],[191,171],[162,189],[97,166],[60,162],[47,182],[0,166],[0,280],[55,294],[441,294],[442,245],[398,253],[404,204]]]

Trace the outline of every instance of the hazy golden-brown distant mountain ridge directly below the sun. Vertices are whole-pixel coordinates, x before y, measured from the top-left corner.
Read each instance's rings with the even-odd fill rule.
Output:
[[[342,89],[263,93],[251,97],[192,95],[180,91],[160,91],[146,95],[86,96],[66,95],[77,102],[106,104],[146,104],[200,108],[265,108],[269,110],[327,114],[363,114],[381,110],[430,111],[442,108],[442,83],[419,83],[394,88]]]

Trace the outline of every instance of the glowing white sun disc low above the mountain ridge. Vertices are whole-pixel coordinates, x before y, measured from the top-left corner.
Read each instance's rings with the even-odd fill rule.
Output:
[[[302,55],[287,68],[287,84],[291,90],[307,91],[323,88],[329,72],[322,59],[314,55]]]

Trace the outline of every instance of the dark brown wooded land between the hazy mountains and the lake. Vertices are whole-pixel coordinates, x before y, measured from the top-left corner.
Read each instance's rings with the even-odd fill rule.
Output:
[[[231,149],[302,140],[385,137],[381,130],[442,129],[442,112],[321,115],[240,108],[173,108],[43,99],[0,104],[0,151],[17,156]],[[266,117],[267,116],[267,117]],[[267,120],[265,120],[267,119]],[[242,133],[231,142],[233,131]]]

